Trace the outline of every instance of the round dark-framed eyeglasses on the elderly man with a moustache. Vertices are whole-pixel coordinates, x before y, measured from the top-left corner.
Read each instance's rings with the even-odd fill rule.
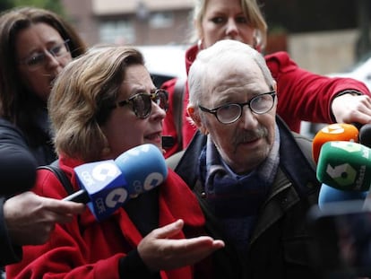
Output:
[[[251,109],[255,114],[267,113],[273,108],[275,97],[276,92],[272,91],[257,95],[244,103],[226,104],[215,109],[206,109],[202,106],[198,107],[204,112],[213,114],[220,123],[230,124],[241,118],[245,106]]]

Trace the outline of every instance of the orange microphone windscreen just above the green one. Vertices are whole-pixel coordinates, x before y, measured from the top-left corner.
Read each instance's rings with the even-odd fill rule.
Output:
[[[324,126],[313,138],[312,156],[315,163],[318,162],[322,145],[333,141],[358,143],[358,128],[345,123],[335,123],[329,126]]]

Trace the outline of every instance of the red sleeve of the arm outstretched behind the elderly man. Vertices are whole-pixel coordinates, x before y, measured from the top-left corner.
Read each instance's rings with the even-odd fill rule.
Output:
[[[332,123],[331,102],[339,92],[351,89],[371,96],[364,83],[310,73],[286,52],[268,55],[265,60],[277,82],[277,113],[294,131],[298,132],[300,120]]]

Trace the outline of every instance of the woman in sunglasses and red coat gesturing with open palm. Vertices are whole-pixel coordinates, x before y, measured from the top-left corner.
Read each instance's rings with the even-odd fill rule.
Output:
[[[167,92],[155,88],[135,48],[94,48],[66,65],[48,109],[59,168],[74,191],[79,187],[73,169],[79,165],[115,159],[142,144],[162,150],[167,105]],[[54,173],[38,171],[36,194],[66,196]],[[126,201],[100,222],[87,207],[72,222],[56,224],[46,244],[23,248],[22,262],[7,266],[6,276],[208,278],[208,256],[224,242],[206,236],[204,222],[194,194],[168,169],[159,187]]]

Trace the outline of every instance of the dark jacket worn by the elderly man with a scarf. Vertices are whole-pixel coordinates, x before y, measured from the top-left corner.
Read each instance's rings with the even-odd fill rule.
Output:
[[[291,133],[277,118],[280,128],[280,165],[270,194],[261,208],[249,252],[243,257],[229,243],[213,254],[215,278],[315,278],[310,267],[306,212],[318,200],[320,183],[315,177],[312,143]],[[194,190],[207,220],[207,231],[225,240],[218,220],[204,202],[203,186],[197,178],[198,157],[206,137],[197,133],[178,161],[176,170]],[[299,144],[298,144],[299,143]],[[177,156],[177,155],[175,155]],[[170,157],[168,161],[174,160]],[[177,160],[176,160],[177,161]]]

